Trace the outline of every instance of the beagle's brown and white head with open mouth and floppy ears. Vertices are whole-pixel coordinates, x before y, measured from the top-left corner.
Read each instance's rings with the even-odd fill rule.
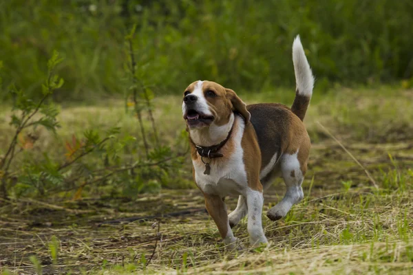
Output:
[[[184,91],[182,113],[189,129],[202,129],[211,125],[227,124],[233,112],[240,113],[246,121],[251,114],[246,104],[235,94],[212,81],[195,81]]]

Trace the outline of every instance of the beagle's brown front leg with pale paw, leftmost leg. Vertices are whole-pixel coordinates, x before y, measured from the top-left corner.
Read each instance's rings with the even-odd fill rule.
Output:
[[[231,249],[235,248],[237,239],[234,237],[229,226],[224,200],[217,195],[204,194],[204,197],[208,213],[211,215],[213,221],[215,221],[224,243],[229,243],[229,248]]]

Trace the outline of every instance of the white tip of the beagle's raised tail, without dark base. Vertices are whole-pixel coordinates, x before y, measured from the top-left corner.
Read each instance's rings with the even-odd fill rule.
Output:
[[[311,94],[313,94],[314,77],[306,54],[304,53],[303,45],[301,45],[299,35],[295,37],[293,43],[293,63],[298,94],[311,96]]]

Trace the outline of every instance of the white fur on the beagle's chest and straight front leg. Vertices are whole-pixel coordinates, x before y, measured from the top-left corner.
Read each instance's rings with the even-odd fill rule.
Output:
[[[204,175],[205,166],[202,162],[193,161],[193,167],[195,168],[195,181],[203,192],[211,195],[220,195],[220,197],[225,197],[226,195],[242,195],[246,197],[248,204],[248,234],[250,235],[251,244],[256,245],[258,243],[267,243],[261,221],[264,197],[262,192],[251,190],[248,186],[243,160],[244,150],[241,146],[244,127],[244,120],[237,116],[233,130],[235,151],[229,156],[227,162],[217,164],[212,161],[210,164],[210,175]],[[233,239],[235,238],[229,227],[224,241],[233,243]]]

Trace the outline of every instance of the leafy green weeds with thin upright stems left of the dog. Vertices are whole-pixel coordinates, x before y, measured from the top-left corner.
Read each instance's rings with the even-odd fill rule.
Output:
[[[132,45],[132,44],[130,44]],[[131,58],[134,53],[131,52]],[[182,164],[182,155],[174,153],[167,146],[160,146],[146,142],[150,140],[145,133],[142,123],[142,113],[147,111],[152,122],[153,136],[156,137],[156,125],[151,113],[151,99],[149,89],[141,87],[139,95],[143,95],[143,102],[136,98],[138,88],[134,87],[134,102],[146,108],[135,108],[138,115],[143,146],[137,144],[131,135],[118,135],[120,128],[110,127],[104,131],[99,129],[85,129],[83,137],[72,135],[72,140],[64,142],[65,157],[52,157],[50,152],[39,153],[30,150],[38,137],[32,136],[31,131],[37,127],[52,131],[58,137],[57,129],[60,124],[57,120],[59,109],[54,103],[47,103],[47,99],[63,85],[63,80],[56,75],[57,66],[63,61],[57,52],[54,52],[47,62],[47,77],[42,85],[39,99],[27,93],[25,89],[17,89],[10,85],[10,94],[13,98],[10,125],[15,133],[12,142],[6,148],[6,154],[0,162],[1,193],[3,197],[12,194],[14,197],[26,195],[45,195],[48,192],[72,190],[73,199],[79,199],[84,189],[94,188],[94,184],[112,189],[112,194],[136,195],[139,192],[158,190],[162,185],[178,178],[178,168]],[[134,68],[135,63],[132,62]],[[131,69],[131,85],[139,79],[135,69]],[[125,159],[125,151],[134,155],[145,149],[146,155],[138,155],[137,159]],[[41,149],[41,148],[40,148]],[[19,166],[11,169],[15,156],[21,153]],[[61,154],[63,156],[63,154]],[[90,187],[89,187],[90,186]],[[53,247],[54,248],[54,247]],[[52,258],[56,261],[56,249],[50,248]]]

